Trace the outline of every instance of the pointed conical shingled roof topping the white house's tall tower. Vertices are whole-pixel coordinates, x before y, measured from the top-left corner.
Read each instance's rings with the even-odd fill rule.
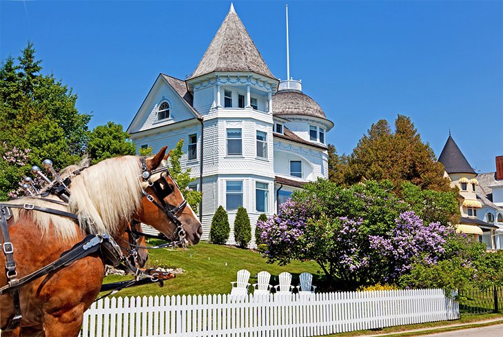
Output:
[[[227,17],[189,79],[210,72],[254,72],[276,79],[258,52],[254,41],[249,37],[232,4]]]

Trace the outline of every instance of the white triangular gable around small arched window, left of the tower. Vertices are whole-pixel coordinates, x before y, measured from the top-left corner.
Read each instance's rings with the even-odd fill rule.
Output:
[[[172,81],[181,80],[172,79]],[[190,97],[190,101],[192,101],[192,97]],[[169,106],[169,117],[158,119],[158,112],[163,103],[167,103]],[[164,114],[166,115],[167,112]],[[167,81],[166,76],[159,74],[130,126],[127,127],[127,132],[132,134],[197,117],[195,110],[180,96],[170,81]]]

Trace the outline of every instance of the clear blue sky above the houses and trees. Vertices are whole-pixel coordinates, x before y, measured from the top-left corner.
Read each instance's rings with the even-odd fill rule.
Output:
[[[410,116],[440,155],[449,136],[475,170],[503,154],[503,1],[288,1],[290,76],[351,153],[372,123]],[[185,79],[229,1],[0,1],[0,57],[30,39],[79,95],[91,127],[129,125],[159,72]],[[286,77],[285,1],[234,1],[271,72]]]

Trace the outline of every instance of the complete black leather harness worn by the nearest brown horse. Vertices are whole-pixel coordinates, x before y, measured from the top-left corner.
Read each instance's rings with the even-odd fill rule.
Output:
[[[134,244],[130,243],[130,245],[134,247],[134,249],[163,248],[163,247],[176,247],[176,246],[182,246],[185,248],[187,242],[185,239],[186,233],[185,230],[183,229],[183,224],[178,219],[177,214],[185,208],[185,206],[187,205],[187,201],[184,200],[183,203],[181,203],[181,205],[178,205],[176,207],[174,205],[165,203],[164,198],[174,192],[174,189],[170,186],[169,183],[167,183],[165,179],[165,176],[170,176],[169,170],[167,169],[166,166],[163,165],[163,167],[149,171],[147,169],[145,159],[141,158],[140,161],[142,170],[141,178],[143,179],[142,194],[147,198],[148,201],[154,203],[156,207],[158,207],[168,218],[170,218],[171,221],[173,221],[173,223],[176,225],[176,231],[174,235],[175,234],[178,235],[178,239],[176,241],[171,241],[170,243],[166,243],[163,245],[158,245],[154,247],[143,247],[136,245],[137,237],[134,236],[138,235],[148,236],[148,234],[143,234],[141,232],[131,230],[131,234],[134,234],[133,236]],[[37,200],[43,200],[48,201],[50,203],[57,203],[59,205],[68,206],[68,199],[70,197],[70,190],[68,189],[68,186],[71,183],[71,177],[80,174],[82,170],[84,170],[85,168],[86,167],[83,167],[80,170],[72,172],[72,174],[70,174],[67,178],[65,178],[64,182],[60,183],[59,181],[54,181],[51,185],[43,189],[43,191],[39,194],[39,196],[41,197],[37,198]],[[156,179],[154,179],[154,176],[156,176],[155,177]],[[144,187],[145,183],[147,185],[146,187]],[[147,187],[152,188],[154,194],[158,198],[158,201],[156,201],[154,196],[152,196],[147,192],[146,190]],[[57,201],[50,198],[43,198],[43,196],[48,196],[49,194],[58,196],[59,198],[61,198],[62,201]],[[127,258],[127,256],[125,256],[121,252],[120,246],[114,241],[112,236],[106,233],[88,234],[87,236],[85,236],[83,241],[76,243],[74,247],[72,247],[66,252],[63,252],[63,254],[61,254],[61,256],[56,261],[53,261],[49,265],[46,265],[45,267],[42,267],[41,269],[38,269],[37,271],[32,272],[31,274],[18,278],[16,263],[14,261],[14,245],[10,241],[10,234],[8,230],[8,220],[12,218],[11,208],[19,208],[26,211],[45,212],[48,214],[54,214],[57,216],[70,218],[77,222],[79,221],[79,217],[76,214],[56,210],[49,207],[37,206],[32,203],[24,203],[23,205],[0,203],[0,234],[3,241],[3,243],[0,241],[0,246],[2,248],[1,250],[3,251],[3,254],[6,256],[6,276],[8,278],[7,285],[0,287],[0,296],[6,293],[10,293],[14,308],[14,316],[10,318],[7,326],[0,327],[0,329],[4,331],[15,329],[21,323],[22,315],[21,315],[21,304],[19,300],[19,288],[23,287],[23,285],[31,282],[34,279],[40,278],[41,276],[49,274],[50,272],[55,272],[61,269],[62,267],[71,265],[75,261],[81,258],[85,258],[86,256],[93,254],[94,252],[100,251],[101,256],[104,258],[106,264],[113,265],[114,267],[124,264],[127,269],[130,269],[130,271],[134,272],[133,274],[136,276],[136,278],[139,278],[141,276],[143,278],[150,278],[150,280],[154,282],[158,281],[158,279],[154,276],[141,273],[141,270],[136,268],[134,262],[131,262]],[[152,237],[169,241],[169,239],[167,239],[165,236],[152,236]],[[137,283],[143,284],[145,282],[144,280],[138,279]],[[131,285],[132,283],[131,281],[129,281],[127,283],[127,286]],[[118,285],[116,288],[122,289],[123,287],[124,287],[123,285],[120,286]]]

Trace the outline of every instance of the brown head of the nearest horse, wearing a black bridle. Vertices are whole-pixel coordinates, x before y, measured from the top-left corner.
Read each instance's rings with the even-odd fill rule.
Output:
[[[163,147],[152,158],[141,161],[144,197],[138,220],[151,225],[173,241],[185,239],[196,245],[203,234],[203,227],[167,170],[166,149]]]

